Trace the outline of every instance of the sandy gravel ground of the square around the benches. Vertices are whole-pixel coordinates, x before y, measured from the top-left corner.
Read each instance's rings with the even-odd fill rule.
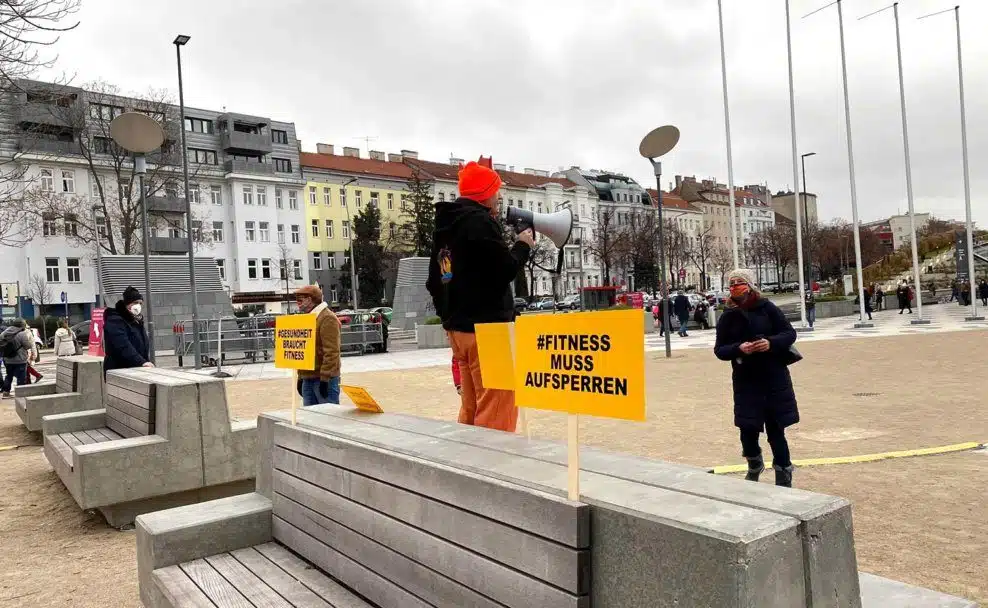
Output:
[[[794,458],[988,441],[988,332],[807,343],[792,368],[802,422]],[[701,466],[740,462],[726,364],[711,353],[647,355],[648,421],[584,420],[583,442]],[[972,372],[977,385],[969,384]],[[454,419],[449,369],[352,375],[386,411]],[[232,382],[236,417],[281,409],[290,382]],[[565,417],[532,413],[532,432],[564,437]],[[0,605],[139,606],[134,533],[80,511],[0,405]],[[771,475],[766,475],[771,479]],[[862,570],[988,605],[988,454],[966,452],[797,470],[797,486],[853,501]]]

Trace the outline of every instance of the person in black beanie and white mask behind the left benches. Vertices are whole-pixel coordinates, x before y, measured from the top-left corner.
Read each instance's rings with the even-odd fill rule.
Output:
[[[103,316],[103,372],[130,367],[154,367],[144,329],[144,296],[133,286]]]

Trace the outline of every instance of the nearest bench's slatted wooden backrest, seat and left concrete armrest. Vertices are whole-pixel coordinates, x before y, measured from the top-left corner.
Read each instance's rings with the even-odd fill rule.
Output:
[[[591,605],[585,504],[277,415],[259,441],[257,493],[137,518],[146,606]]]

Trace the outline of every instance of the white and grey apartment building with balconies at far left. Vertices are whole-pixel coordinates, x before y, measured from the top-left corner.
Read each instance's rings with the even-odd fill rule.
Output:
[[[25,81],[20,89],[10,94],[0,112],[0,170],[17,177],[13,198],[23,197],[31,205],[42,196],[59,212],[45,214],[43,219],[36,214],[22,216],[23,225],[30,223],[34,233],[23,246],[14,242],[0,246],[6,262],[0,265],[0,282],[19,281],[23,296],[27,291],[23,286],[41,277],[56,303],[61,304],[59,296],[65,292],[73,320],[88,317],[99,291],[94,264],[96,226],[103,253],[111,253],[102,218],[94,224],[91,208],[106,200],[113,213],[112,205],[121,204],[121,199],[132,200],[126,204],[134,206],[138,200],[136,193],[129,194],[130,160],[103,135],[108,133],[109,120],[136,110],[164,124],[167,135],[162,158],[171,155],[167,162],[159,159],[159,164],[153,155],[148,158],[151,252],[181,255],[188,251],[181,156],[177,154],[177,130],[182,124],[197,255],[215,257],[224,288],[235,303],[280,302],[285,292],[279,271],[282,260],[288,262],[288,289],[304,284],[303,182],[294,124],[193,108],[186,108],[185,119],[179,123],[177,106],[118,96],[109,88],[94,92]],[[74,120],[66,120],[67,109]],[[115,170],[114,163],[122,169]],[[118,179],[127,183],[118,185]],[[136,183],[134,178],[135,187]],[[128,215],[139,222],[140,209],[136,208],[136,213]],[[141,253],[140,232],[137,226],[133,231],[137,242],[129,248],[117,240],[117,253]],[[284,248],[280,234],[285,235]],[[116,227],[114,235],[121,238]],[[111,303],[118,297],[107,294]],[[30,303],[25,304],[30,311]],[[60,313],[56,307],[53,314]]]

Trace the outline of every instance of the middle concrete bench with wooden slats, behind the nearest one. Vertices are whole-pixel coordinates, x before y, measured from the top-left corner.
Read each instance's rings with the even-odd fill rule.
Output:
[[[256,422],[231,422],[223,381],[114,370],[103,409],[45,416],[44,453],[83,509],[114,527],[149,511],[251,492]]]

